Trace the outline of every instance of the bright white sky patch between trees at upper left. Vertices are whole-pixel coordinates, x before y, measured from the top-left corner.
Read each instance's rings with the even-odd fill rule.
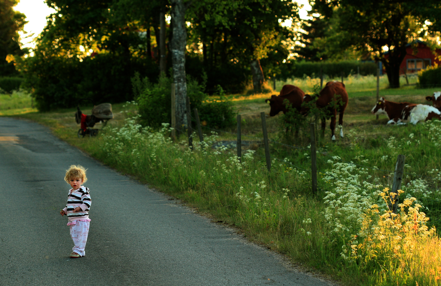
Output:
[[[20,0],[20,3],[14,7],[14,10],[24,13],[26,21],[29,21],[24,27],[27,33],[23,34],[20,32],[23,47],[34,48],[35,42],[33,42],[33,38],[37,37],[45,28],[46,16],[52,14],[55,10],[49,8],[44,0]],[[33,37],[27,37],[32,33],[34,33]]]

